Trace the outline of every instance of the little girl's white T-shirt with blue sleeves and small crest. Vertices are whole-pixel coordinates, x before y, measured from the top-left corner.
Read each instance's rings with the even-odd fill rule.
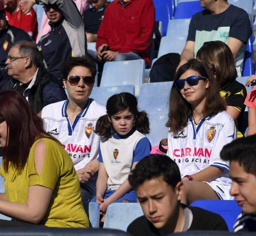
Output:
[[[108,173],[108,190],[117,190],[127,180],[133,163],[150,155],[150,151],[148,138],[135,129],[100,140],[98,161],[103,162]]]

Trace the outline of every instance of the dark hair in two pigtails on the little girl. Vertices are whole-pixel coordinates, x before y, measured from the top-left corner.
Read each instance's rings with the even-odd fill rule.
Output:
[[[110,138],[113,133],[112,123],[108,117],[128,109],[135,117],[134,128],[143,134],[149,133],[149,120],[145,111],[138,111],[137,99],[129,92],[121,92],[111,96],[107,101],[107,114],[101,116],[95,127],[95,132],[105,138]]]

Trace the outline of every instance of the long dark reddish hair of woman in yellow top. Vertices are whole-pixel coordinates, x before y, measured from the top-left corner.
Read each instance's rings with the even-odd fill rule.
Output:
[[[59,141],[44,131],[41,118],[33,113],[28,101],[14,90],[0,92],[0,116],[7,123],[3,167],[8,172],[9,163],[20,173],[28,160],[30,148],[42,137]]]

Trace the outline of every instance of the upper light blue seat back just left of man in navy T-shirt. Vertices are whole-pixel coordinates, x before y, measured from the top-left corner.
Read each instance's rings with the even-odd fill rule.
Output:
[[[168,23],[166,36],[172,38],[175,36],[183,36],[186,37],[187,40],[190,20],[191,18],[170,20]]]

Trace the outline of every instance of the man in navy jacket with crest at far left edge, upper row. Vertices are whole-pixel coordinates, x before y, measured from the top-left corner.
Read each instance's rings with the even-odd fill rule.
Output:
[[[0,69],[6,67],[5,61],[12,44],[22,40],[32,41],[24,30],[8,25],[4,4],[0,1]]]

